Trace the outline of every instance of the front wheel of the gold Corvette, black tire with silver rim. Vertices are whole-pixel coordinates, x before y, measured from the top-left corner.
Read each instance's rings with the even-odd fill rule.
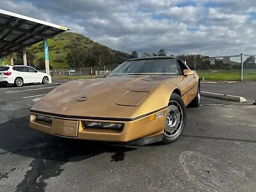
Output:
[[[186,107],[183,100],[177,93],[172,93],[168,104],[163,140],[160,143],[169,144],[176,141],[184,131],[186,118]]]

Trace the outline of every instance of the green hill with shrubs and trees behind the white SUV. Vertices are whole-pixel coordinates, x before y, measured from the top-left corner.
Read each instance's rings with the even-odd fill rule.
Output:
[[[51,68],[111,65],[131,58],[131,54],[115,51],[77,33],[61,33],[53,39],[48,39],[48,46]],[[13,56],[15,65],[23,63],[21,51]],[[28,65],[38,69],[44,68],[43,42],[27,47],[27,60]],[[7,56],[5,63],[10,65],[10,56]]]

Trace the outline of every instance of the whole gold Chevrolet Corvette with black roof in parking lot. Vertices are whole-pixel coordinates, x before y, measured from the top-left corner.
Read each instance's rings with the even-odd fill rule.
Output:
[[[182,60],[136,58],[104,77],[58,86],[31,108],[29,127],[118,145],[167,144],[182,134],[186,107],[199,105],[199,76]]]

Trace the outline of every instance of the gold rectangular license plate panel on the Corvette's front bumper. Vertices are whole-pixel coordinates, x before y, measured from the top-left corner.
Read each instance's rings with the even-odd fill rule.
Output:
[[[77,137],[78,123],[78,121],[54,118],[52,120],[52,134],[67,137]]]

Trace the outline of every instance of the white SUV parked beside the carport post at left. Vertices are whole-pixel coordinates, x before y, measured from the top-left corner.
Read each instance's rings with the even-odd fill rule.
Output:
[[[26,83],[49,83],[51,76],[38,72],[33,67],[26,65],[0,66],[0,86],[15,84],[22,86]]]

